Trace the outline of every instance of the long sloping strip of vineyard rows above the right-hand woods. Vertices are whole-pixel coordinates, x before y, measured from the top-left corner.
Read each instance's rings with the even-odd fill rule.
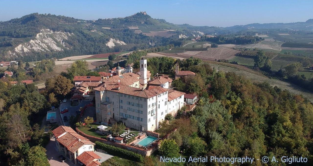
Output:
[[[223,72],[234,72],[237,75],[242,75],[245,78],[250,79],[252,82],[258,82],[258,83],[268,82],[271,86],[277,86],[280,89],[282,90],[286,89],[293,94],[302,95],[303,97],[307,98],[310,102],[313,102],[312,93],[298,86],[295,86],[293,84],[280,81],[280,80],[269,79],[265,76],[262,76],[262,74],[256,74],[255,71],[250,73],[248,68],[242,70],[243,68],[240,69],[233,64],[225,64],[225,63],[218,63],[218,62],[211,62],[211,61],[206,61],[206,62],[209,63],[211,67],[214,67],[216,70],[220,70]]]

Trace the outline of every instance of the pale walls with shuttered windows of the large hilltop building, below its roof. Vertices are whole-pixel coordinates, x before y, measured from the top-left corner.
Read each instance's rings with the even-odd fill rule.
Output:
[[[97,122],[107,123],[113,118],[139,131],[155,131],[166,114],[176,115],[183,106],[184,95],[168,101],[168,91],[151,98],[142,98],[105,90],[96,91],[95,98]]]

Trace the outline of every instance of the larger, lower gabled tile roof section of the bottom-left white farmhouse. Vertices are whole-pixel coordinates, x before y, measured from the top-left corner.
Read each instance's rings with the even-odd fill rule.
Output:
[[[83,145],[95,145],[89,139],[75,133],[66,133],[62,137],[56,139],[59,143],[64,145],[70,152],[74,153]]]

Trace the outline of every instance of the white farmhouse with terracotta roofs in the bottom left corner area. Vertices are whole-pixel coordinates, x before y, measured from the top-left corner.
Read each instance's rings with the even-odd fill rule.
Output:
[[[89,139],[77,134],[71,127],[59,126],[52,131],[55,137],[55,146],[59,152],[65,154],[77,164],[79,160],[85,165],[100,165],[97,161],[100,157],[95,154],[94,145]],[[87,163],[87,164],[86,164]]]

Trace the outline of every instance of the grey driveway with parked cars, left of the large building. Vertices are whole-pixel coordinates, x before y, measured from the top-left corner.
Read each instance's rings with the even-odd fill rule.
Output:
[[[63,118],[64,116],[67,116],[68,120],[69,120],[69,117],[71,117],[72,115],[75,117],[77,115],[76,111],[78,111],[80,107],[84,107],[85,105],[90,104],[90,102],[91,101],[89,100],[83,100],[77,106],[71,106],[71,101],[61,102],[60,107],[59,107],[60,110],[62,110],[63,108],[68,108],[69,110],[68,112],[61,114],[62,121],[64,122],[64,118]],[[64,122],[64,126],[70,126],[69,121]]]

